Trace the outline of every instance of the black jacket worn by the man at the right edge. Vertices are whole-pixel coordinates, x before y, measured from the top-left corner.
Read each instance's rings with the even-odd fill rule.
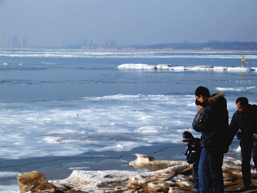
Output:
[[[236,135],[236,132],[241,130],[241,147],[253,147],[253,134],[257,133],[257,106],[256,104],[248,104],[248,110],[245,113],[238,109],[234,113],[229,125],[229,140],[230,144]]]

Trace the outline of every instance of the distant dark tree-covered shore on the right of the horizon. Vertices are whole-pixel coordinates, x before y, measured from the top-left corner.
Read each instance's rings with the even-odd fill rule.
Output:
[[[257,42],[220,42],[209,41],[206,43],[159,43],[154,45],[128,45],[136,49],[187,49],[187,50],[256,50]]]

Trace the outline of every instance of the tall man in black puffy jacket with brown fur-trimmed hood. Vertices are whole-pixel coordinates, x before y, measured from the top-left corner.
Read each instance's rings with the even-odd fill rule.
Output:
[[[219,92],[210,96],[206,87],[199,86],[195,95],[205,108],[197,128],[204,133],[205,156],[202,170],[207,192],[224,192],[223,158],[228,152],[228,111],[224,94]]]

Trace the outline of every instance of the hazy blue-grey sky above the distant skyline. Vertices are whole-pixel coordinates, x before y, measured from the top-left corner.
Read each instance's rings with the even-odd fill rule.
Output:
[[[5,1],[0,0],[0,43],[103,45],[257,41],[257,1]]]

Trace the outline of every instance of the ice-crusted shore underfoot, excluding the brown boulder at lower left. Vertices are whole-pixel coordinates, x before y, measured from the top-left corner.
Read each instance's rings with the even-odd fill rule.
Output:
[[[139,172],[105,170],[74,170],[63,180],[50,180],[50,183],[68,185],[73,189],[94,192],[186,192],[193,186],[191,167],[185,167],[185,161],[155,160],[146,154],[135,154],[137,159],[130,165],[139,168]],[[163,168],[163,169],[159,169]],[[241,161],[224,157],[223,176],[225,189],[236,190],[240,185]],[[150,172],[150,171],[151,172]],[[256,186],[256,170],[251,170],[251,179]],[[241,182],[242,183],[242,182]]]

